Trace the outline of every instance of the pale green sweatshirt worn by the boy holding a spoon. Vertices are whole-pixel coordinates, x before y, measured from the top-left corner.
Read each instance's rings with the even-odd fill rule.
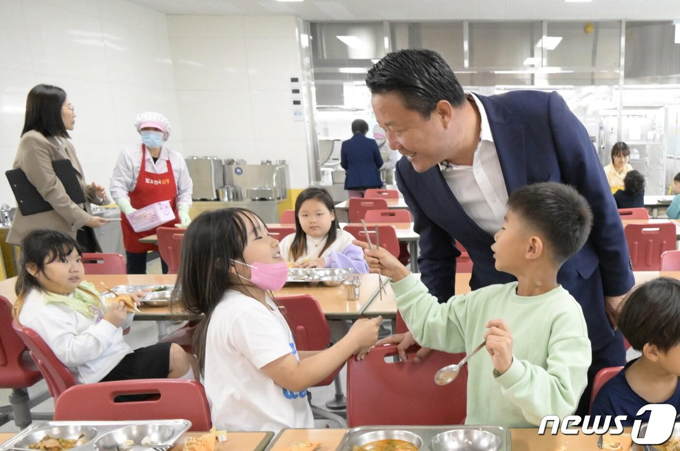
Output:
[[[561,286],[518,296],[517,282],[490,285],[446,304],[438,304],[412,274],[392,289],[421,346],[469,353],[483,342],[487,321],[507,323],[513,363],[505,374],[494,369],[486,350],[468,361],[467,425],[532,427],[543,416],[563,418],[576,410],[587,382],[590,340],[581,306]]]

